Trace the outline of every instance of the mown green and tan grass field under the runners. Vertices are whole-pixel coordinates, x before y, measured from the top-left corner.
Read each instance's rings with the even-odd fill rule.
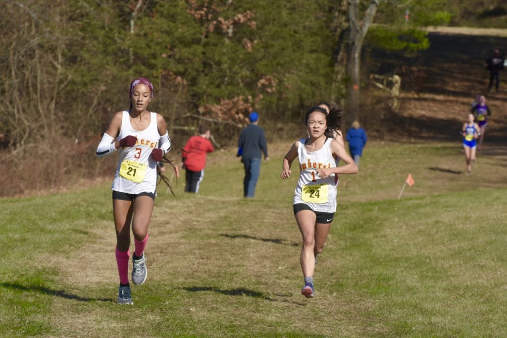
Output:
[[[459,142],[369,144],[340,177],[306,299],[288,146],[271,147],[254,199],[232,150],[209,157],[197,195],[159,186],[131,307],[116,304],[110,183],[0,200],[0,335],[507,335],[507,149],[488,145],[466,176]]]

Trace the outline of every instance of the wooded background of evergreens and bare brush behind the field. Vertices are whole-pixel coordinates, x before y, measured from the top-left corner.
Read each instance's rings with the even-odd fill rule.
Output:
[[[274,141],[322,100],[368,125],[364,44],[414,55],[428,47],[421,27],[503,27],[507,14],[504,1],[458,0],[0,4],[0,196],[112,172],[95,148],[136,77],[154,83],[150,110],[180,144],[202,122],[235,144],[251,110]]]

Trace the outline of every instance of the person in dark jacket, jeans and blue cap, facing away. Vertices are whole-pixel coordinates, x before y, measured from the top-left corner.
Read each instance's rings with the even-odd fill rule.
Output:
[[[241,156],[241,162],[245,167],[245,178],[243,179],[244,197],[250,198],[255,194],[257,180],[261,173],[261,158],[264,153],[264,160],[267,161],[268,146],[264,129],[259,126],[259,114],[251,112],[248,116],[250,124],[241,130],[238,142],[237,156]]]

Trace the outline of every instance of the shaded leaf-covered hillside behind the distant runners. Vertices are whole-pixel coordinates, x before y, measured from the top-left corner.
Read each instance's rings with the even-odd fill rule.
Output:
[[[507,30],[434,28],[430,48],[415,57],[370,51],[371,73],[402,77],[400,107],[385,113],[383,135],[424,140],[455,140],[476,94],[484,94],[492,116],[485,142],[502,143],[507,127],[507,82],[487,92],[485,60],[493,49],[507,46]],[[469,34],[470,33],[470,34]],[[493,34],[493,35],[492,35]],[[500,35],[500,36],[498,36]]]

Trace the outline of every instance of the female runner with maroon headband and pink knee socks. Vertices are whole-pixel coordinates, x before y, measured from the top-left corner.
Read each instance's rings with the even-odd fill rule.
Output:
[[[141,285],[148,276],[144,248],[155,202],[157,162],[169,151],[171,143],[162,115],[148,111],[153,98],[150,80],[132,81],[129,98],[130,109],[113,116],[98,145],[97,156],[120,152],[112,186],[116,262],[120,275],[118,303],[132,305],[128,280],[130,227],[135,245],[132,283]]]

